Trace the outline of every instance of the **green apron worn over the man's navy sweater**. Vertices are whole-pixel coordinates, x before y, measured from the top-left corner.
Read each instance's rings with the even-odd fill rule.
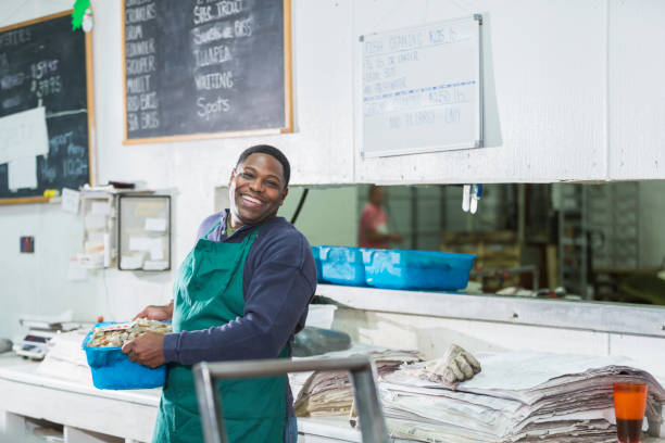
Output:
[[[199,239],[178,270],[174,283],[173,330],[192,331],[225,325],[244,309],[242,269],[261,228],[241,243]],[[279,357],[288,356],[286,345]],[[284,441],[287,377],[221,380],[224,422],[230,442]],[[191,366],[168,364],[162,391],[154,443],[203,442]]]

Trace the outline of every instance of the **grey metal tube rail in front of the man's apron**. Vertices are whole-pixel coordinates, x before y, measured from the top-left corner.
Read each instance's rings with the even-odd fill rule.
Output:
[[[278,376],[310,370],[348,370],[351,374],[361,434],[366,443],[388,443],[388,428],[378,401],[375,368],[367,357],[309,360],[261,359],[228,363],[200,363],[192,368],[205,443],[227,443],[222,402],[215,380]]]

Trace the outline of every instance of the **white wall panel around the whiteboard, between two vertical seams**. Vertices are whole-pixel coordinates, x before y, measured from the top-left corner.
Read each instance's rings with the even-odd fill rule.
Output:
[[[364,161],[356,154],[357,181],[606,177],[605,0],[381,4],[354,2],[356,35],[482,13],[488,148]]]

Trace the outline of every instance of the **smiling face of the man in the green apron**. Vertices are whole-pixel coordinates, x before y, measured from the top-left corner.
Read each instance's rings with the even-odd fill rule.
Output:
[[[234,227],[238,221],[255,225],[274,217],[289,191],[281,163],[261,153],[251,154],[239,164],[228,185]]]

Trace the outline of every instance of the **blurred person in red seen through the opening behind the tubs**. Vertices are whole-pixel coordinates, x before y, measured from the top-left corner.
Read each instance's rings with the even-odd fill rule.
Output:
[[[384,211],[384,188],[372,185],[357,228],[361,248],[388,249],[389,242],[401,242],[402,236],[388,232],[388,216]]]

